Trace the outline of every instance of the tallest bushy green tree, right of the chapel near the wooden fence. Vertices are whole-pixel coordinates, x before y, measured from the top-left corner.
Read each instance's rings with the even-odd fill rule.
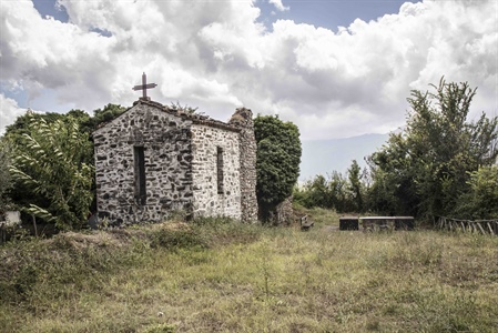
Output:
[[[470,173],[495,163],[498,119],[467,121],[476,90],[468,83],[411,91],[406,129],[372,157],[372,209],[398,214],[451,214]],[[385,199],[378,200],[379,195]]]

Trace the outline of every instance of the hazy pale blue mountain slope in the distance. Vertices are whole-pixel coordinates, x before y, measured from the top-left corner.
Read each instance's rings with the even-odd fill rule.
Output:
[[[387,142],[389,134],[364,134],[332,140],[303,141],[299,181],[313,179],[317,174],[327,175],[334,170],[343,174],[356,160],[365,168],[364,158],[377,151]]]

